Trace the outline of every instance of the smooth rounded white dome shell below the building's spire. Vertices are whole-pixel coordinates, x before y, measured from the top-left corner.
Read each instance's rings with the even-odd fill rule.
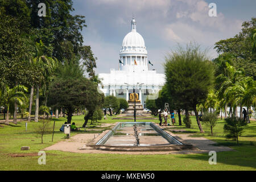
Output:
[[[123,38],[122,46],[145,48],[145,42],[141,34],[136,31],[131,31],[125,36],[125,38]]]

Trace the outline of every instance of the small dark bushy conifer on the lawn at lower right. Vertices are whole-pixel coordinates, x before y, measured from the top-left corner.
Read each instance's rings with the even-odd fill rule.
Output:
[[[226,138],[233,138],[237,140],[238,144],[238,137],[241,136],[243,126],[247,124],[246,121],[238,117],[226,118],[225,121],[224,131],[227,133]]]

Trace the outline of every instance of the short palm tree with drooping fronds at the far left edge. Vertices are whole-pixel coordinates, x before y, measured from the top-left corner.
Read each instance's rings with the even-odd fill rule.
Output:
[[[9,86],[6,86],[4,97],[7,104],[7,114],[5,124],[9,125],[9,109],[10,105],[14,103],[18,105],[22,105],[23,102],[26,102],[27,97],[23,91],[20,90],[27,90],[25,86],[15,86],[14,88],[10,89]]]

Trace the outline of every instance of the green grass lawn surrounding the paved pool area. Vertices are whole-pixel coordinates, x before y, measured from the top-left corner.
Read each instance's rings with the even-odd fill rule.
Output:
[[[108,117],[88,128],[97,128],[100,123],[115,123],[122,120],[114,120]],[[10,126],[0,125],[0,170],[255,170],[256,168],[256,122],[252,121],[245,127],[240,137],[240,146],[235,141],[226,139],[223,134],[224,121],[218,121],[214,128],[214,136],[210,136],[210,130],[203,126],[205,133],[200,134],[195,117],[192,118],[192,128],[176,126],[175,129],[184,129],[191,132],[193,137],[206,137],[219,144],[232,147],[235,151],[218,152],[217,165],[208,163],[208,154],[169,154],[169,155],[123,155],[123,154],[77,154],[62,151],[46,151],[46,165],[39,165],[37,152],[53,143],[64,140],[64,134],[59,131],[66,118],[55,119],[55,133],[53,142],[52,134],[44,137],[44,144],[35,133],[38,123],[28,123],[25,131],[25,122]],[[127,120],[126,120],[127,121]],[[139,121],[139,119],[138,119]],[[148,120],[147,120],[148,121]],[[150,120],[149,120],[150,121]],[[157,120],[152,120],[158,123]],[[81,127],[83,116],[74,116],[72,122]],[[51,122],[53,125],[53,121]],[[79,133],[101,133],[101,131],[80,131]],[[84,129],[82,129],[84,130]],[[77,133],[72,133],[75,135]],[[30,146],[30,151],[20,151],[20,147]],[[14,154],[34,154],[35,156],[14,157]]]

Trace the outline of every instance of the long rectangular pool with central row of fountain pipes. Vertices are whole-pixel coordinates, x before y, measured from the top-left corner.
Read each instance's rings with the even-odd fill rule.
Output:
[[[169,146],[170,144],[183,145],[153,122],[119,122],[96,143],[96,145],[124,147]]]

